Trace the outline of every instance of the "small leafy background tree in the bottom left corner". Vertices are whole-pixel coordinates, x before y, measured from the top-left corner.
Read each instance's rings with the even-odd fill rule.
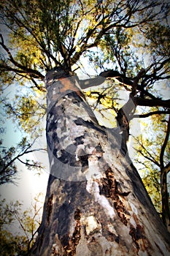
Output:
[[[41,220],[42,203],[39,197],[40,194],[34,198],[31,208],[25,211],[21,209],[20,201],[6,203],[5,199],[1,200],[1,255],[28,255]]]

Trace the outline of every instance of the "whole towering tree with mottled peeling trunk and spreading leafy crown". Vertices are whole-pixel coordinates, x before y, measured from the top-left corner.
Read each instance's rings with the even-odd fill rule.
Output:
[[[9,42],[1,36],[0,43],[3,83],[17,80],[22,85],[29,80],[34,91],[43,92],[39,80],[46,80],[50,178],[33,255],[169,252],[169,234],[126,146],[136,106],[156,106],[157,113],[169,114],[169,99],[161,99],[154,87],[157,81],[169,79],[169,43],[163,40],[169,26],[160,25],[168,14],[168,4],[161,1],[1,4],[1,19],[10,31]],[[163,48],[152,36],[155,24]],[[143,45],[137,44],[139,39]],[[11,50],[12,45],[17,50]],[[139,49],[147,49],[149,61],[143,61],[142,55],[136,58]],[[93,61],[97,71],[101,69],[97,78],[77,78],[83,56]],[[117,110],[116,129],[98,124],[82,93],[106,78],[110,88],[118,84],[130,92],[128,102]],[[110,97],[106,93],[97,92],[96,106]],[[114,104],[112,108],[116,110]],[[165,149],[161,159],[164,153]],[[165,177],[164,165],[162,170]],[[167,186],[162,181],[165,206]],[[168,225],[169,218],[165,219]]]

